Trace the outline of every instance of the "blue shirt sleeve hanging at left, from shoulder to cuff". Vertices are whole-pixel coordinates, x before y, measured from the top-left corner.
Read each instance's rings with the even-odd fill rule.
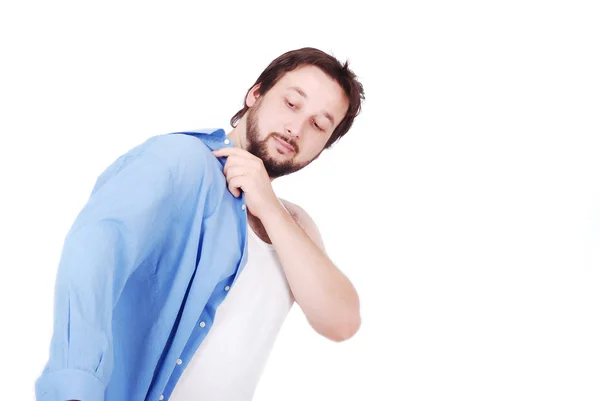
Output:
[[[104,171],[66,236],[50,357],[35,383],[39,401],[104,400],[113,370],[113,307],[177,213],[172,169],[149,146]]]

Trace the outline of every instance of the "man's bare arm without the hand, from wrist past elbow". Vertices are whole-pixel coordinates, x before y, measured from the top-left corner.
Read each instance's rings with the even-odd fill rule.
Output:
[[[283,207],[274,208],[261,221],[294,298],[318,333],[333,341],[347,340],[360,327],[358,294],[327,256],[308,213],[297,205],[290,209],[298,215],[298,224]]]

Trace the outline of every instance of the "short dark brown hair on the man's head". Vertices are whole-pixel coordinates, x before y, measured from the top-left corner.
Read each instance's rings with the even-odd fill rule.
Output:
[[[248,89],[246,96],[257,84],[260,84],[258,93],[260,96],[263,96],[285,73],[305,65],[313,65],[320,68],[342,87],[348,97],[348,111],[346,111],[346,115],[335,128],[333,134],[331,134],[331,138],[329,138],[327,144],[325,144],[325,148],[328,148],[350,130],[354,118],[361,111],[361,103],[365,98],[363,86],[357,80],[356,74],[348,68],[347,60],[342,65],[335,57],[312,47],[291,50],[277,57],[267,66],[254,85]],[[231,117],[232,127],[237,125],[246,111],[248,111],[248,106],[244,100],[244,107]]]

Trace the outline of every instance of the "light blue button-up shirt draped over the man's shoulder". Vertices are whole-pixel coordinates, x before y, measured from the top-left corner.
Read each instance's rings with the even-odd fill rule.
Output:
[[[38,401],[168,400],[247,260],[222,129],[153,136],[99,177],[69,230]]]

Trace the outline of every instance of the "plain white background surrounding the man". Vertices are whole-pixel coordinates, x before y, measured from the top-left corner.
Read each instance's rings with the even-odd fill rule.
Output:
[[[333,343],[295,307],[255,400],[600,399],[594,2],[156,3],[0,6],[2,399],[34,398],[96,177],[149,136],[228,129],[302,46],[348,58],[367,100],[275,189],[319,225],[363,326]]]

